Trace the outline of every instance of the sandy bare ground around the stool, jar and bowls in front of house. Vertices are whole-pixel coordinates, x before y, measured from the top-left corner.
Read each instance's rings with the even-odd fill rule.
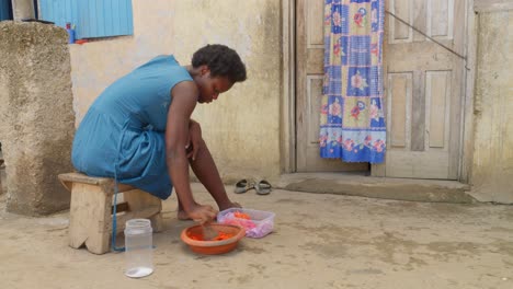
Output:
[[[198,184],[196,199],[213,204]],[[232,187],[227,187],[229,192]],[[27,218],[0,201],[0,288],[513,288],[513,207],[394,201],[273,190],[230,193],[274,211],[275,230],[226,255],[180,241],[192,221],[164,201],[151,276],[124,276],[124,254],[67,245],[68,213]]]

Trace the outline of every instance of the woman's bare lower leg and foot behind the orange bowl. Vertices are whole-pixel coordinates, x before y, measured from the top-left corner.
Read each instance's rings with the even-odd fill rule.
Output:
[[[232,203],[228,198],[225,185],[223,184],[219,172],[217,171],[217,166],[206,144],[197,151],[196,160],[193,161],[191,158],[189,159],[189,163],[191,164],[191,167],[200,182],[205,186],[208,193],[210,193],[214,200],[216,200],[219,210],[240,207],[239,204]],[[178,218],[180,220],[189,219],[189,216],[182,208],[180,199]]]

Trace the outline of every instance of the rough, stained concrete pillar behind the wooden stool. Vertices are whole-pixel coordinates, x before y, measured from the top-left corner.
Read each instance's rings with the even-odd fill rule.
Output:
[[[59,173],[70,161],[75,115],[67,34],[39,23],[0,23],[0,141],[8,211],[69,208]]]

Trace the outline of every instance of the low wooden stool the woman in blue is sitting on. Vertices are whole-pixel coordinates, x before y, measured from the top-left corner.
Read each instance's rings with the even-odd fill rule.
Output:
[[[62,185],[71,192],[69,210],[69,245],[83,244],[94,254],[109,252],[112,234],[112,197],[114,180],[91,177],[80,173],[59,174]],[[153,232],[162,231],[162,201],[149,193],[129,185],[117,184],[124,203],[116,207],[116,234],[125,229],[125,222],[134,218],[151,220]],[[119,199],[119,196],[117,196]]]

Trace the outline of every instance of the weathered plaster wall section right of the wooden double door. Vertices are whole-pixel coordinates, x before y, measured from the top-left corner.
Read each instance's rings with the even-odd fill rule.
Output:
[[[478,16],[472,193],[513,203],[513,10]]]

